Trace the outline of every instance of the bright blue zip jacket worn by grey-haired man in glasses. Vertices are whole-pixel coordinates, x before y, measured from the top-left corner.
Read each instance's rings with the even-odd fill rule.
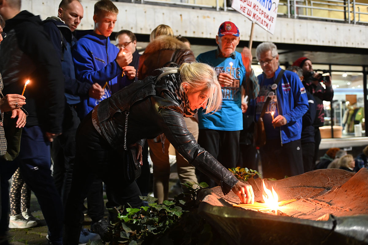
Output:
[[[276,77],[279,75],[280,71],[281,68],[279,67],[275,72],[275,76],[271,78],[273,81],[276,80]],[[261,114],[263,103],[265,102],[266,96],[268,94],[268,91],[262,93],[262,83],[265,80],[266,75],[264,73],[258,76],[258,81],[261,88],[258,97],[256,98],[256,120],[258,120]],[[269,87],[270,86],[271,85],[269,85]],[[308,111],[309,105],[305,88],[296,73],[293,71],[284,71],[279,84],[277,84],[276,97],[276,108],[272,108],[272,104],[270,103],[266,110],[266,114],[263,117],[265,128],[273,128],[272,125],[266,124],[272,121],[272,119],[270,119],[271,114],[268,113],[270,112],[269,109],[271,111],[276,110],[276,114],[278,113],[283,115],[287,122],[286,125],[276,127],[276,130],[280,130],[281,144],[299,140],[301,138],[302,116]],[[265,118],[266,116],[268,116],[268,118]]]

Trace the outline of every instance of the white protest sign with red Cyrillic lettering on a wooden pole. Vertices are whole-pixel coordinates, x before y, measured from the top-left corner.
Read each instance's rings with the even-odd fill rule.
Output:
[[[279,0],[233,0],[231,7],[266,31],[275,31]]]

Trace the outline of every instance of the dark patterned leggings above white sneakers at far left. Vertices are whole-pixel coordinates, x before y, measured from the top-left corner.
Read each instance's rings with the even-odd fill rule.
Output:
[[[31,202],[31,189],[22,179],[19,168],[13,174],[10,186],[10,215],[15,216],[29,210]]]

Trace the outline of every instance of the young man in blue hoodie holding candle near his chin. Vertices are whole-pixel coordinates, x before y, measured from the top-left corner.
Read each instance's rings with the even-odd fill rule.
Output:
[[[132,53],[110,43],[118,14],[117,7],[110,0],[100,0],[95,4],[93,32],[88,33],[74,45],[72,50],[75,77],[82,83],[98,83],[105,93],[101,99],[83,97],[79,116],[84,118],[98,103],[119,90],[118,79],[123,71],[130,78],[135,77],[135,69],[128,70]],[[106,85],[106,86],[105,86]]]

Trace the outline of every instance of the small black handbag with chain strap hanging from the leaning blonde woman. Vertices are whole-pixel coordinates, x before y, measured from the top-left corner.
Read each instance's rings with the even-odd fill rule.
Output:
[[[142,166],[137,160],[137,149],[131,147],[127,149],[127,130],[128,130],[128,115],[129,109],[125,112],[125,132],[124,132],[124,179],[125,181],[132,183],[142,173]]]

